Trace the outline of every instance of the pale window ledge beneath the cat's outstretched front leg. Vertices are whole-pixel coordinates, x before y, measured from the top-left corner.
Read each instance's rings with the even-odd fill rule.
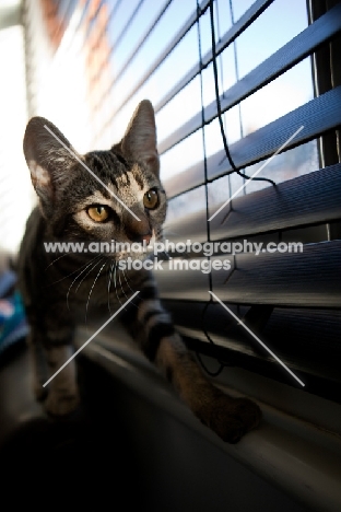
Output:
[[[226,455],[282,489],[302,505],[324,512],[341,510],[341,438],[338,432],[283,412],[267,404],[267,400],[259,399],[255,396],[256,393],[245,391],[240,393],[240,386],[237,391],[215,380],[215,383],[231,395],[246,394],[256,399],[263,412],[263,420],[257,430],[249,432],[236,445],[223,443],[191,415],[172,386],[145,360],[127,335],[121,331],[119,336],[117,335],[116,326],[115,336],[116,339],[113,339],[113,327],[105,329],[84,347],[82,354],[103,366],[145,400],[163,408],[178,421],[203,435]],[[80,328],[77,346],[81,347],[87,338],[85,329]],[[234,369],[226,371],[231,373],[231,370]],[[279,398],[282,389],[285,394],[285,386],[270,380],[266,381],[272,395],[275,394],[273,384]],[[238,380],[236,382],[238,383]],[[257,387],[254,386],[254,389]],[[299,391],[293,389],[293,392]],[[311,395],[308,397],[309,400],[310,409],[314,404],[316,406],[313,411],[316,416],[319,415],[319,410],[324,412],[328,409],[334,418],[341,418],[341,406],[338,404],[320,397],[311,398]]]

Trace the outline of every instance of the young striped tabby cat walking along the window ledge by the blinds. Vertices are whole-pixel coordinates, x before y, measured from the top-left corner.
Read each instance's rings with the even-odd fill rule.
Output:
[[[214,386],[187,350],[160,302],[152,271],[128,270],[120,286],[110,288],[120,259],[142,259],[146,255],[139,245],[163,240],[167,199],[160,181],[152,103],[144,100],[138,105],[125,136],[108,151],[79,154],[43,117],[28,121],[23,147],[38,206],[27,220],[20,248],[19,286],[31,326],[34,392],[46,411],[52,417],[69,415],[80,403],[74,359],[51,380],[48,391],[43,386],[73,353],[73,311],[84,313],[90,295],[106,309],[109,295],[116,311],[139,290],[118,318],[190,410],[230,443],[256,428],[259,407]],[[44,249],[46,241],[80,240],[134,243],[138,249],[96,256],[60,256]],[[77,279],[81,284],[72,288]]]

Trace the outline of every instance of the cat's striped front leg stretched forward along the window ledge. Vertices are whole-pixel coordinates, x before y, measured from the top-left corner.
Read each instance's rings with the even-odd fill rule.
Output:
[[[220,438],[235,443],[258,426],[261,412],[254,402],[227,396],[204,376],[163,310],[152,279],[121,319],[192,412]]]

